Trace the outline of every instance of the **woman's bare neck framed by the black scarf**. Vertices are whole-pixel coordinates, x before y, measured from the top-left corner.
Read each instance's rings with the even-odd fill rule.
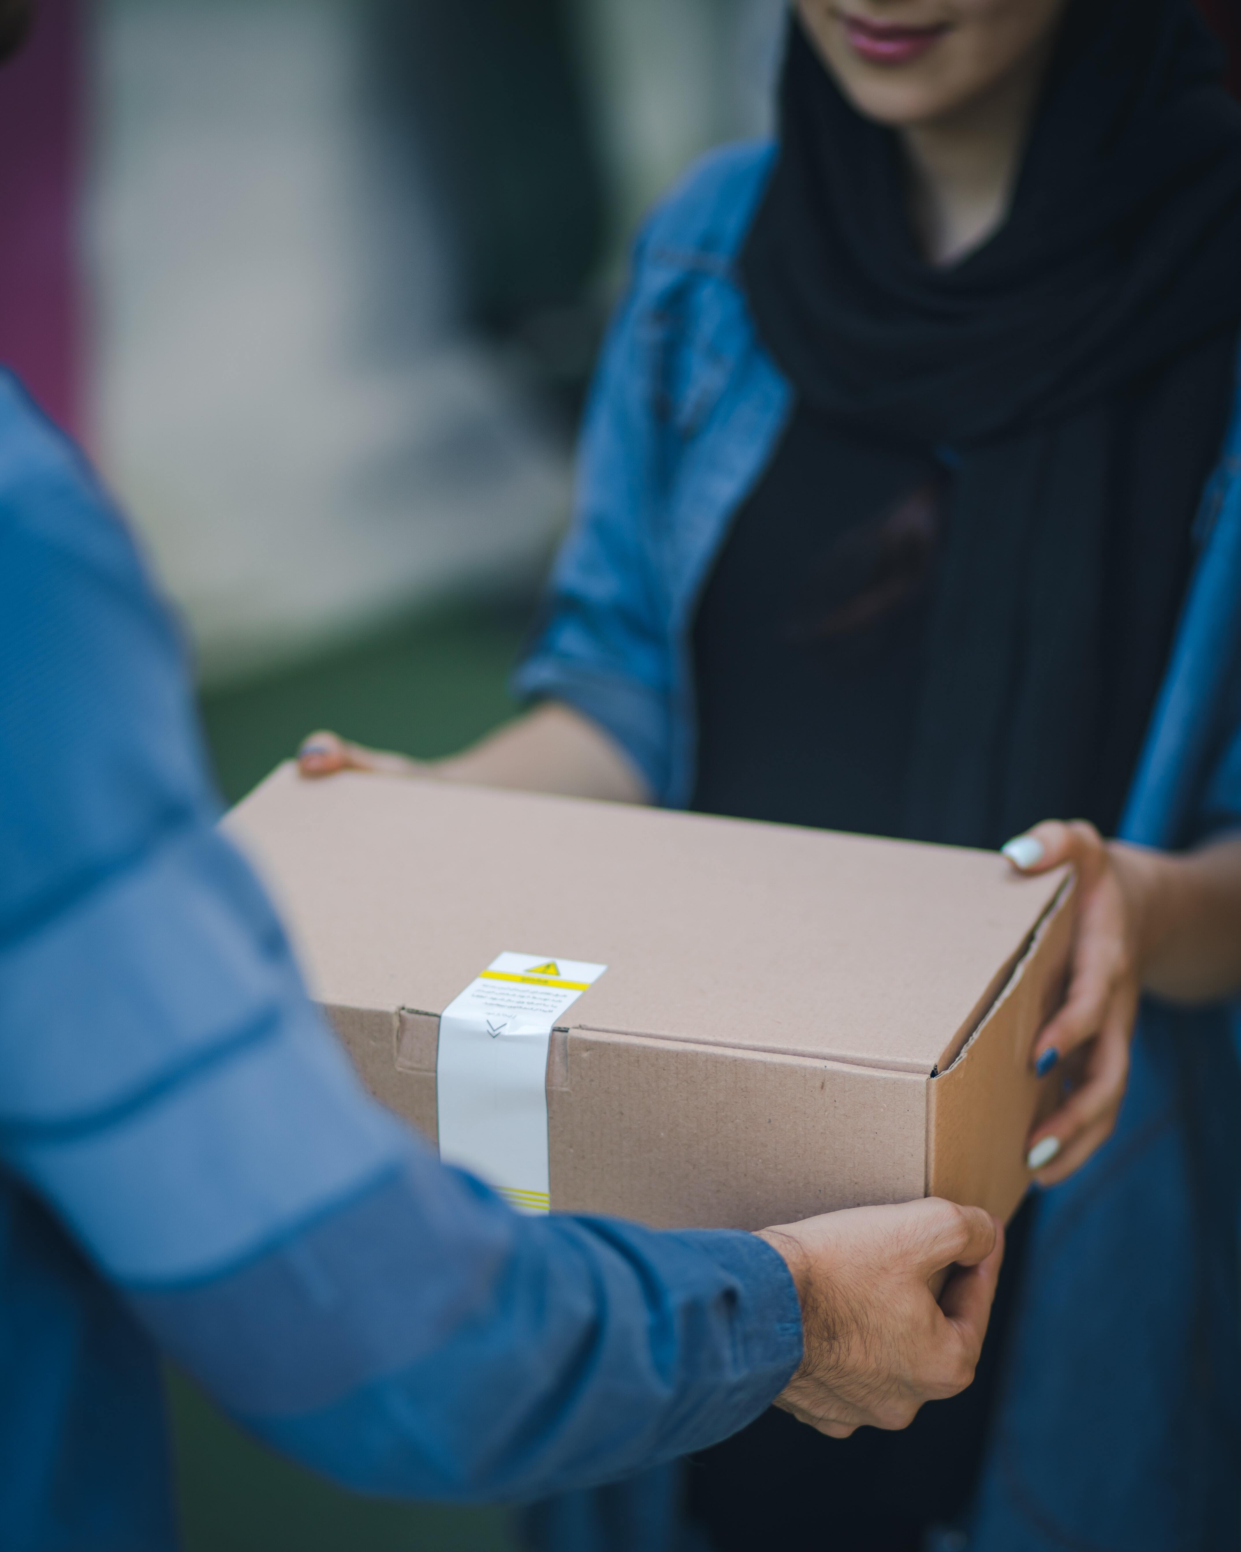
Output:
[[[1008,76],[949,118],[898,130],[911,172],[914,230],[929,264],[954,264],[1004,225],[1047,53],[1022,62],[1016,79]]]

